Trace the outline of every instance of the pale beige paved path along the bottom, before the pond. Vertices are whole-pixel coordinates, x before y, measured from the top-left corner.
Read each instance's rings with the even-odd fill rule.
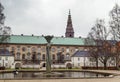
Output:
[[[119,78],[99,79],[37,79],[37,80],[0,80],[0,82],[120,82]]]

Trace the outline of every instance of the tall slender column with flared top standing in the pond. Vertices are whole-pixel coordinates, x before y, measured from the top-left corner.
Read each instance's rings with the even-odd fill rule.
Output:
[[[46,46],[46,72],[50,73],[51,72],[51,58],[50,58],[50,46],[51,46],[51,39],[53,36],[45,36],[45,39],[47,41],[47,46]]]

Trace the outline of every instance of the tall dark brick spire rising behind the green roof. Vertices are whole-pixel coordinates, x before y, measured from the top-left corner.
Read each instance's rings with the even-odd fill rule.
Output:
[[[72,19],[71,19],[70,10],[69,10],[69,15],[68,15],[68,20],[67,20],[65,37],[74,37],[74,29],[72,26]]]

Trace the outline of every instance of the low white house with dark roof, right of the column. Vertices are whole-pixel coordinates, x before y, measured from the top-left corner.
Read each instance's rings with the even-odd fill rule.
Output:
[[[115,67],[115,57],[111,56],[107,60],[107,67]],[[96,67],[96,60],[92,57],[89,51],[76,51],[71,57],[72,67],[73,68],[82,68],[82,67]],[[98,67],[104,67],[104,63],[102,63],[98,59]]]

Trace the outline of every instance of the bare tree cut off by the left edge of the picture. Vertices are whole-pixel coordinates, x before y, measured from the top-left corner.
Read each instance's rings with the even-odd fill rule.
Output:
[[[4,7],[0,3],[0,47],[5,48],[5,44],[10,38],[11,28],[4,25],[5,16],[3,14]]]

